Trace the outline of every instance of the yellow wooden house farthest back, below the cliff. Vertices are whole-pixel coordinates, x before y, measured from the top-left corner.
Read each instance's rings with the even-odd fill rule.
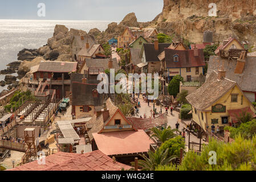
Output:
[[[117,38],[118,48],[128,48],[129,44],[135,41],[140,36],[143,36],[148,42],[157,38],[158,32],[155,28],[137,28],[127,27],[123,34]]]

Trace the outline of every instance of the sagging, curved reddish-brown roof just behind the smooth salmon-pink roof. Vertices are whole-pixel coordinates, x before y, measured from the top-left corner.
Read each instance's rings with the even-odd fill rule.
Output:
[[[142,118],[127,118],[129,122],[132,123],[132,125],[137,129],[137,130],[148,130],[152,129],[153,127],[156,126],[162,126],[165,123],[167,123],[167,117],[165,114],[161,114],[159,117],[156,117],[155,119],[152,118],[147,118],[147,119],[142,119]]]

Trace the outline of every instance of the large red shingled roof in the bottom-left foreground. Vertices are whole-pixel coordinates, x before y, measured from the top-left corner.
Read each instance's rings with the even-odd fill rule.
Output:
[[[130,166],[113,162],[109,156],[97,150],[86,154],[58,152],[46,157],[46,164],[37,161],[7,171],[120,171]]]

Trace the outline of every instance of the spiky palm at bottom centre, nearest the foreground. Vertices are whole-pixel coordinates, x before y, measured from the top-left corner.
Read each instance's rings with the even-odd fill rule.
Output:
[[[138,161],[138,166],[142,167],[142,171],[155,171],[157,166],[164,166],[167,164],[170,164],[172,160],[176,159],[177,156],[170,156],[168,158],[168,151],[169,148],[166,149],[165,151],[160,151],[157,149],[155,152],[149,151],[148,156],[140,155],[144,160],[139,160]],[[131,163],[132,166],[135,166],[135,163]]]

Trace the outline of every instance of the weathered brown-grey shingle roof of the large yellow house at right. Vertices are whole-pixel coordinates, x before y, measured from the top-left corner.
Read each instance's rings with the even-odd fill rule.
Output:
[[[196,109],[204,110],[224,96],[235,85],[237,85],[236,82],[227,78],[218,80],[217,72],[213,71],[208,80],[195,92],[189,94],[186,100]]]

